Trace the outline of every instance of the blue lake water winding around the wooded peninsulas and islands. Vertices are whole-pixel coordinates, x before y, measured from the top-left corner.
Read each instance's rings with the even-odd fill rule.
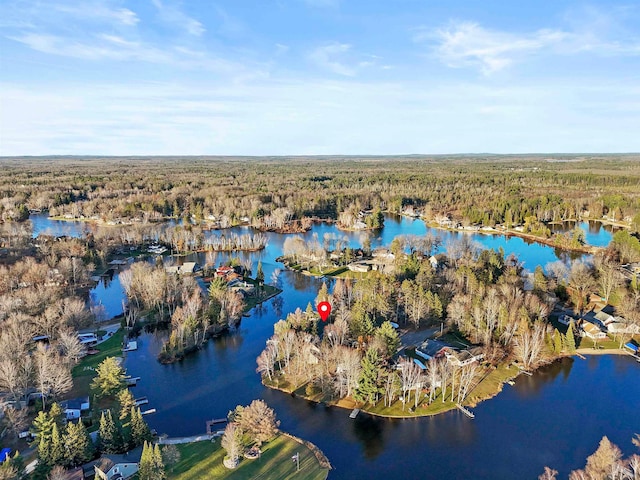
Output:
[[[66,234],[72,234],[63,223]],[[40,229],[53,228],[38,222]],[[248,227],[235,231],[248,232]],[[35,226],[34,226],[35,231]],[[78,234],[82,229],[77,230]],[[428,229],[420,220],[387,217],[385,227],[373,234],[372,246],[388,245],[398,234],[438,234],[447,239],[463,235]],[[604,233],[602,233],[604,232]],[[346,236],[352,246],[370,233],[340,232],[334,225],[317,224],[304,234],[325,233]],[[54,233],[55,234],[55,233]],[[213,232],[211,234],[220,234]],[[606,238],[604,229],[594,232]],[[609,234],[610,235],[610,234]],[[285,235],[267,234],[269,243],[261,252],[240,256],[263,263],[270,280],[282,268],[275,258],[282,253]],[[486,248],[502,247],[515,253],[528,269],[558,259],[571,258],[555,249],[520,238],[473,234]],[[602,240],[604,242],[604,240]],[[216,263],[227,255],[219,254]],[[514,387],[506,386],[496,398],[474,409],[471,420],[460,412],[412,420],[377,419],[326,408],[265,388],[255,373],[255,359],[273,333],[273,324],[296,308],[313,301],[322,280],[291,271],[278,275],[284,292],[252,310],[237,331],[210,341],[200,352],[181,362],[161,365],[156,357],[165,332],[144,333],[139,349],[126,355],[129,374],[142,377],[133,390],[147,396],[147,417],[152,428],[171,436],[204,432],[208,419],[226,416],[237,404],[264,398],[282,421],[281,428],[318,445],[335,470],[331,479],[394,478],[537,478],[545,465],[566,478],[580,468],[602,437],[607,435],[625,452],[633,451],[630,439],[640,431],[640,365],[629,357],[565,359],[521,377]],[[122,288],[117,275],[92,292],[108,313],[121,311]]]

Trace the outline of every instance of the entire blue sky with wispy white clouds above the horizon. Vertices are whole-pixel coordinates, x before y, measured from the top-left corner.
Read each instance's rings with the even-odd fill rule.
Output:
[[[0,155],[640,151],[640,4],[0,0]]]

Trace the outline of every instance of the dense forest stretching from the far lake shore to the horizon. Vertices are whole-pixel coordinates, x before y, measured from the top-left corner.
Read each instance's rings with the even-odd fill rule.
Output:
[[[640,227],[640,158],[438,156],[311,158],[3,158],[0,218],[29,211],[106,223],[187,218],[282,230],[358,212],[419,214],[461,224],[577,218]],[[341,216],[342,215],[342,216]],[[373,227],[378,219],[368,219]],[[540,225],[539,223],[542,223]]]

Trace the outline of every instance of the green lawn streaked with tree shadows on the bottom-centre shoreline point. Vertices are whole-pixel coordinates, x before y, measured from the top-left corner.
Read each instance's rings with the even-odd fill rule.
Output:
[[[262,456],[256,460],[240,460],[240,465],[229,470],[222,465],[225,451],[220,440],[178,445],[181,460],[167,469],[171,480],[218,479],[310,479],[323,480],[328,470],[321,468],[314,454],[304,445],[283,435],[279,435],[262,446]],[[291,457],[300,453],[300,471]]]

